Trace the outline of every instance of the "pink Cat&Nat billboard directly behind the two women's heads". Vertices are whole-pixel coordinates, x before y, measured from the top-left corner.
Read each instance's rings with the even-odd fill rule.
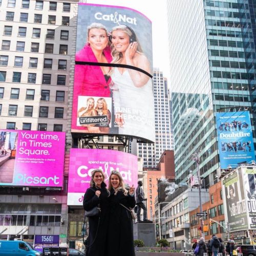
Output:
[[[90,187],[91,173],[102,169],[108,184],[112,170],[118,170],[125,184],[137,185],[137,156],[114,150],[71,148],[68,183],[68,205],[82,205],[83,195]]]

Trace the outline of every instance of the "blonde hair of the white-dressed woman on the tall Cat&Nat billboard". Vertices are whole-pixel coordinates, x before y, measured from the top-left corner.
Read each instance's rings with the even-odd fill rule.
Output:
[[[113,29],[112,29],[112,32],[115,31],[115,30],[122,30],[123,32],[125,32],[129,38],[131,38],[131,36],[133,35],[131,29],[129,29],[128,27],[126,27],[125,25],[119,25],[119,26],[115,26]],[[134,36],[136,38],[136,42],[137,42],[137,53],[143,53],[142,51],[142,48],[140,46],[140,43],[138,42],[138,38],[136,36],[136,34],[134,33]],[[111,49],[111,55],[113,57],[113,60],[111,61],[111,63],[121,63],[122,59],[123,59],[123,55],[121,52],[118,52],[116,50],[116,48],[114,47],[113,43],[111,44],[110,46],[110,49]]]

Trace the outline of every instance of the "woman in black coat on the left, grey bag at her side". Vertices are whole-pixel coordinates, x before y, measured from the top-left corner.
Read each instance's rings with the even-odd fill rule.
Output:
[[[83,197],[84,210],[99,205],[99,216],[89,218],[89,236],[86,244],[87,256],[105,256],[106,236],[109,221],[109,190],[104,183],[104,173],[100,169],[92,172],[90,188]],[[100,217],[100,218],[99,218]]]

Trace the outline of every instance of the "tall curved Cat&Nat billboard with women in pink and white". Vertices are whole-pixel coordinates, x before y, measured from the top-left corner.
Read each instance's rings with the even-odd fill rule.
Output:
[[[155,141],[152,24],[130,8],[78,4],[72,132]]]

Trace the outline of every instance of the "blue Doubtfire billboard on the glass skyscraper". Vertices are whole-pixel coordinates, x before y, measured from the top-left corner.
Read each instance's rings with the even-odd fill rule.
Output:
[[[221,168],[255,160],[249,111],[216,113]]]

